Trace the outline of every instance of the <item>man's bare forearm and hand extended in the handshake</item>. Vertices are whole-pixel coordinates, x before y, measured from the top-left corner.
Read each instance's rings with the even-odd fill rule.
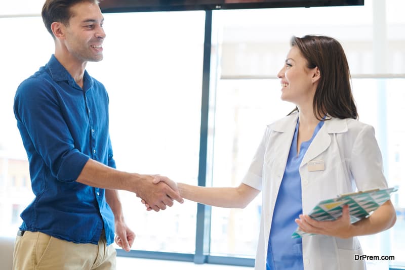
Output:
[[[177,190],[173,190],[165,183],[153,184],[153,180],[159,177],[161,176],[119,171],[89,159],[76,182],[96,188],[136,193],[155,211],[166,209],[166,205],[172,206],[173,199],[182,203],[183,199]]]

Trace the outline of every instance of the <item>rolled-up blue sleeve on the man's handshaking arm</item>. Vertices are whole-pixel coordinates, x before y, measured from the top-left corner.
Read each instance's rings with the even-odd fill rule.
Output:
[[[75,149],[60,100],[47,83],[41,78],[31,78],[18,87],[14,101],[17,125],[25,148],[31,148],[27,149],[31,153],[28,158],[38,158],[32,154],[37,153],[55,178],[73,182],[90,157]]]

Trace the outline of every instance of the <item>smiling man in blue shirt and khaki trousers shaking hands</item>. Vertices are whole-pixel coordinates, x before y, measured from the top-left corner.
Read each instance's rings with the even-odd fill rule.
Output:
[[[166,177],[115,169],[108,95],[85,70],[103,59],[97,1],[47,0],[42,17],[55,54],[20,84],[14,103],[35,199],[21,213],[13,268],[115,269],[114,228],[126,251],[135,239],[116,190],[136,193],[155,211],[182,198],[152,183]]]

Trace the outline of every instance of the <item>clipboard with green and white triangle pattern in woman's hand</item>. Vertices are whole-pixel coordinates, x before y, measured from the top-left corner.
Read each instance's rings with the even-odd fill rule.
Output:
[[[318,221],[336,220],[342,215],[344,205],[349,205],[350,222],[368,217],[374,210],[390,199],[396,188],[373,189],[338,195],[337,198],[320,201],[308,214]],[[315,234],[305,233],[297,228],[291,238]]]

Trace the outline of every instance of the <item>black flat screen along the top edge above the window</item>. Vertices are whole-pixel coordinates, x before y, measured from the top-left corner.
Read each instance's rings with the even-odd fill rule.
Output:
[[[103,13],[362,6],[364,0],[101,0]]]

